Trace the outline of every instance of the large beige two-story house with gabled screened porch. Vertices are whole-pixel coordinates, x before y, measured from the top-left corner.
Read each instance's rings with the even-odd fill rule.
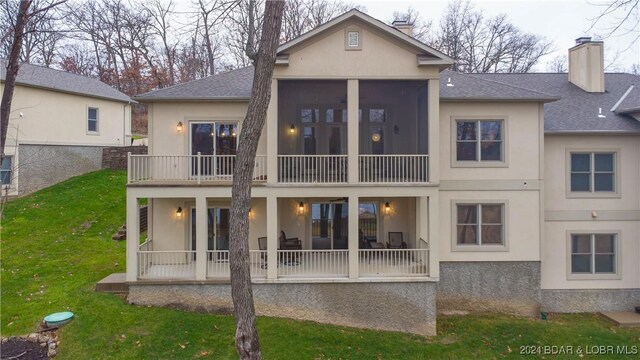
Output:
[[[590,41],[571,49],[571,82],[455,73],[410,31],[352,10],[279,47],[249,213],[258,313],[434,334],[436,310],[640,305],[639,77],[604,77]],[[232,306],[252,80],[136,97],[149,155],[129,159],[130,302]]]

